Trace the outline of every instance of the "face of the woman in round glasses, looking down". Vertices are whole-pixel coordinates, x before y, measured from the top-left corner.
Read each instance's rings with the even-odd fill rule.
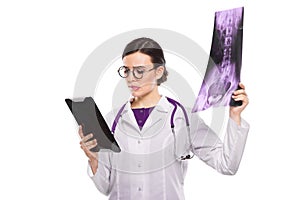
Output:
[[[130,70],[130,72],[128,72],[129,75],[126,78],[126,82],[132,96],[143,97],[151,93],[154,88],[157,87],[157,73],[156,70],[153,70],[154,65],[151,62],[150,56],[140,52],[135,52],[125,56],[123,58],[123,64]],[[133,76],[133,68],[136,68],[137,73],[144,72],[141,79]]]

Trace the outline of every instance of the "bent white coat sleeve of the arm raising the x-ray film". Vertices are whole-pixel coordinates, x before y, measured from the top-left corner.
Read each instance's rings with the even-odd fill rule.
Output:
[[[244,152],[249,124],[242,119],[241,125],[228,120],[224,142],[197,115],[192,115],[191,143],[194,154],[218,172],[234,175]]]

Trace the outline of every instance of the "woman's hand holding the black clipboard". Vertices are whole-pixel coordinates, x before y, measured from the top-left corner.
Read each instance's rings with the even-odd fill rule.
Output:
[[[81,125],[79,126],[78,133],[81,138],[80,147],[84,151],[85,155],[89,158],[92,171],[95,174],[98,168],[98,154],[97,152],[92,152],[91,149],[97,146],[97,140],[90,140],[93,138],[92,133],[84,136]]]

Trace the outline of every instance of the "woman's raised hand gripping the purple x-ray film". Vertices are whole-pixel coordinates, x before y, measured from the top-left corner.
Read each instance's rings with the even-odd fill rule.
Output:
[[[239,83],[241,89],[234,91],[232,98],[235,101],[242,101],[243,104],[241,106],[231,106],[230,107],[230,118],[232,118],[237,124],[241,123],[241,113],[249,104],[249,99],[247,93],[245,91],[245,86],[242,83]]]

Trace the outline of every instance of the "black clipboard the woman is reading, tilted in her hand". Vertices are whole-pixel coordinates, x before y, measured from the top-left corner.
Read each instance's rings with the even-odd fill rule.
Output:
[[[92,139],[97,140],[98,145],[91,149],[91,151],[99,152],[100,149],[110,149],[114,152],[121,151],[92,97],[85,97],[83,101],[65,99],[65,102],[77,124],[82,125],[83,134],[93,133],[94,137]]]

